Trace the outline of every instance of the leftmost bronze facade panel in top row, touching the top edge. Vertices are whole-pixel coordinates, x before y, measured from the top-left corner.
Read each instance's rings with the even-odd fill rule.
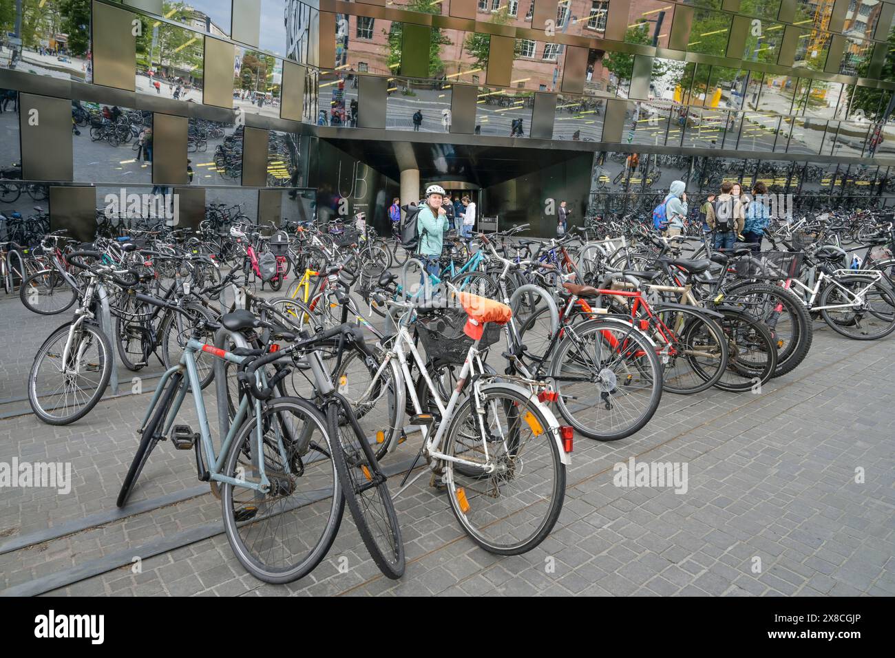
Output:
[[[137,38],[132,21],[136,14],[108,4],[93,3],[91,21],[93,82],[133,91],[136,85]]]

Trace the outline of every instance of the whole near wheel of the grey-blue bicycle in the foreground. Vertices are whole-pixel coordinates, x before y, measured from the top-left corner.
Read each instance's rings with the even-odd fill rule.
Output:
[[[223,475],[259,482],[260,459],[270,490],[221,484],[227,541],[236,559],[266,583],[291,583],[307,576],[336,539],[345,498],[333,453],[338,452],[320,412],[297,397],[264,405],[263,457],[256,419],[250,417],[227,453]]]

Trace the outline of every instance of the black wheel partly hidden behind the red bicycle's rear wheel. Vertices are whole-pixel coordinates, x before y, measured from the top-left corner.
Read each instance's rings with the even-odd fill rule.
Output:
[[[777,343],[761,320],[737,308],[717,309],[728,345],[728,363],[715,388],[760,391],[777,367]]]

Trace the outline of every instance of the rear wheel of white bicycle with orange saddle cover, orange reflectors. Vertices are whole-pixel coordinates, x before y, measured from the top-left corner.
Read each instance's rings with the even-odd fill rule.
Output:
[[[467,491],[479,493],[473,487],[481,486],[487,475],[475,474],[471,476],[464,474],[457,468],[457,466],[461,465],[447,461],[447,464],[444,466],[447,499],[450,502],[457,522],[474,543],[481,546],[485,551],[496,555],[520,555],[538,546],[550,534],[553,526],[556,525],[566,495],[566,466],[562,464],[556,441],[550,435],[550,424],[547,418],[542,414],[539,406],[533,403],[533,398],[530,397],[527,391],[520,391],[507,384],[492,383],[482,386],[481,392],[483,406],[491,414],[499,414],[500,409],[507,414],[506,425],[510,440],[507,441],[502,438],[495,440],[495,437],[492,435],[485,439],[493,449],[489,451],[490,459],[498,457],[499,446],[502,445],[507,450],[504,455],[504,463],[498,469],[500,471],[499,477],[502,481],[489,483],[487,485],[488,492],[483,494],[483,496],[471,497],[467,495]],[[497,400],[499,398],[502,398],[504,402],[498,407]],[[490,404],[492,401],[494,402],[493,405]],[[467,420],[470,421],[468,425],[466,424]],[[448,426],[447,440],[444,447],[446,455],[450,457],[460,456],[460,458],[466,458],[469,461],[473,461],[473,458],[476,456],[481,456],[482,453],[478,452],[476,448],[476,444],[478,446],[482,445],[482,437],[479,434],[480,425],[477,423],[477,420],[478,418],[474,413],[473,397],[467,397],[457,407],[456,413]],[[493,418],[492,420],[498,423],[497,426],[503,427],[504,423],[499,418]],[[527,424],[529,432],[534,439],[540,440],[540,443],[534,442],[530,446],[520,449],[516,453],[516,458],[514,458],[511,453],[512,449],[507,443],[512,444],[516,442],[515,448],[518,448],[519,434],[525,432],[522,427],[523,421]],[[488,423],[489,428],[493,426],[495,426],[494,423]],[[464,432],[465,430],[467,432]],[[461,442],[465,437],[469,437],[471,440],[469,447]],[[515,441],[514,437],[516,437]],[[519,500],[515,496],[503,496],[501,499],[502,493],[507,491],[510,483],[520,479],[519,474],[537,474],[538,484],[547,482],[547,476],[537,469],[539,456],[534,454],[534,450],[539,448],[541,448],[541,452],[544,452],[542,447],[546,447],[549,457],[541,457],[541,459],[549,459],[550,466],[553,468],[553,477],[550,478],[552,482],[543,487],[545,493],[541,494],[540,490],[534,491],[537,485],[535,483],[529,484],[529,480],[526,480],[523,491],[520,491],[522,495],[519,497]],[[518,455],[522,451],[526,455],[524,468],[516,466],[516,464],[521,463],[521,460],[518,460]],[[474,466],[462,466],[469,469],[474,468]],[[503,491],[501,491],[501,486],[504,488]],[[548,490],[549,502],[546,505],[546,510],[543,514],[537,514],[540,521],[536,524],[530,521],[523,523],[523,519],[517,516],[518,513],[524,511],[526,517],[536,514],[533,513],[532,508],[536,505],[541,505],[541,502],[548,498],[546,493]],[[499,514],[502,514],[503,517],[500,517],[498,513],[489,511],[482,515],[482,528],[474,527],[471,518],[479,511],[476,508],[476,503],[479,500],[486,502],[486,499],[489,498],[491,500],[501,500],[501,505],[505,505],[502,500],[507,500],[506,505],[512,505],[514,509],[507,511],[505,507],[500,508]],[[501,522],[505,519],[510,519],[510,521],[507,530],[503,531],[504,524]],[[534,529],[531,534],[519,539],[518,535],[522,534],[520,530],[523,526],[533,526]],[[483,534],[483,531],[486,529],[493,534],[498,534],[499,537],[507,536],[509,539],[506,543],[503,543],[499,541],[498,537],[486,537]]]

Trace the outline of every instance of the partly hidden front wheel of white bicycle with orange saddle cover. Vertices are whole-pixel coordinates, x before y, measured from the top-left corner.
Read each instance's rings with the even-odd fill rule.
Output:
[[[380,357],[385,354],[377,350]],[[381,460],[397,446],[405,417],[405,381],[392,360],[379,372],[380,361],[352,350],[342,355],[342,363],[332,379],[338,392],[348,400],[363,436],[375,446]],[[293,377],[293,386],[296,378]]]

